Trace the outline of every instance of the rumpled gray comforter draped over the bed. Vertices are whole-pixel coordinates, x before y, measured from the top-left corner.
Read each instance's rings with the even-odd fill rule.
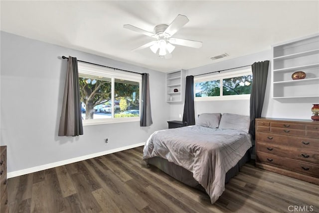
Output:
[[[213,204],[225,190],[225,174],[251,147],[241,130],[186,126],[154,132],[143,159],[161,157],[193,173]]]

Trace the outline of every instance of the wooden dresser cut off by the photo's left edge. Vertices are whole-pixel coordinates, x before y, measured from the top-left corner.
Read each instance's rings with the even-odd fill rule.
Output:
[[[6,146],[0,146],[0,213],[8,213],[6,189]]]

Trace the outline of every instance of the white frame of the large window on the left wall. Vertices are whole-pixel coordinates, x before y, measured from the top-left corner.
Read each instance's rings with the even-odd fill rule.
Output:
[[[111,78],[111,102],[114,103],[114,87],[115,79],[123,79],[127,81],[134,81],[139,83],[139,110],[141,112],[141,98],[142,98],[142,75],[128,73],[116,69],[91,65],[87,63],[78,62],[78,71],[80,74],[94,75]],[[115,117],[114,107],[112,107],[111,118],[96,118],[96,119],[82,119],[83,126],[100,125],[110,123],[136,122],[141,120],[141,114],[137,117]]]

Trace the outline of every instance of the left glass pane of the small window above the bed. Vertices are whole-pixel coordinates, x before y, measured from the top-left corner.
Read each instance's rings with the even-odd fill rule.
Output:
[[[195,83],[195,97],[220,96],[220,81]]]

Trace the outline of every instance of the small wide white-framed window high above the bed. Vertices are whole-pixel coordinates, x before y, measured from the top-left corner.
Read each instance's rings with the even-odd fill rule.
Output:
[[[195,78],[195,101],[249,99],[252,81],[251,69]]]

